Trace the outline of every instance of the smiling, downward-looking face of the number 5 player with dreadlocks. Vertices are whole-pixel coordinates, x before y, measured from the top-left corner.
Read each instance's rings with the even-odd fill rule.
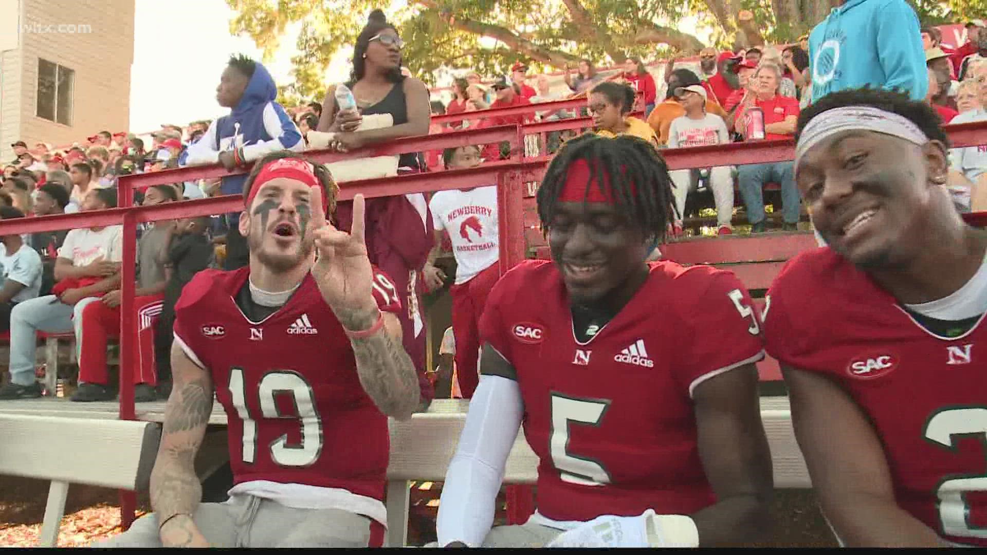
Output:
[[[614,292],[642,268],[646,251],[642,232],[608,202],[559,202],[549,247],[576,304]]]

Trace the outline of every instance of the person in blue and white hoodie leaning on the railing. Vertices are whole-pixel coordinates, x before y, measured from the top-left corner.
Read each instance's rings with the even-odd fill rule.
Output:
[[[231,56],[216,88],[216,102],[232,112],[210,123],[205,134],[189,146],[185,164],[218,162],[233,171],[269,152],[303,151],[305,143],[298,127],[275,98],[277,87],[264,64],[244,55]],[[246,175],[224,177],[223,195],[240,195],[246,180]],[[229,231],[223,266],[224,270],[236,270],[247,266],[247,241],[237,231],[240,214],[227,214],[226,218]]]

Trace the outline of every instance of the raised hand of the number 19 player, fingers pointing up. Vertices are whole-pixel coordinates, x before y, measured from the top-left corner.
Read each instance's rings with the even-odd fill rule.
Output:
[[[337,229],[324,217],[312,219],[313,241],[318,259],[312,277],[329,306],[346,325],[344,313],[376,309],[373,298],[373,269],[363,238],[364,200],[353,198],[353,223],[349,233]]]

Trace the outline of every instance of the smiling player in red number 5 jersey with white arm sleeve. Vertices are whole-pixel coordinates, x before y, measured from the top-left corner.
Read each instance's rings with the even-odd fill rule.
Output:
[[[642,139],[586,135],[552,161],[538,212],[553,260],[518,265],[487,301],[440,545],[695,547],[765,531],[760,323],[732,274],[645,263],[672,205]],[[538,511],[491,529],[521,425]]]

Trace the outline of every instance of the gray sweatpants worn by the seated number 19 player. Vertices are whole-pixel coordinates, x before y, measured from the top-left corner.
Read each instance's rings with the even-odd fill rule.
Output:
[[[339,509],[291,509],[253,496],[203,503],[192,519],[212,547],[367,547],[375,524]],[[91,547],[162,547],[158,516],[143,516]]]

